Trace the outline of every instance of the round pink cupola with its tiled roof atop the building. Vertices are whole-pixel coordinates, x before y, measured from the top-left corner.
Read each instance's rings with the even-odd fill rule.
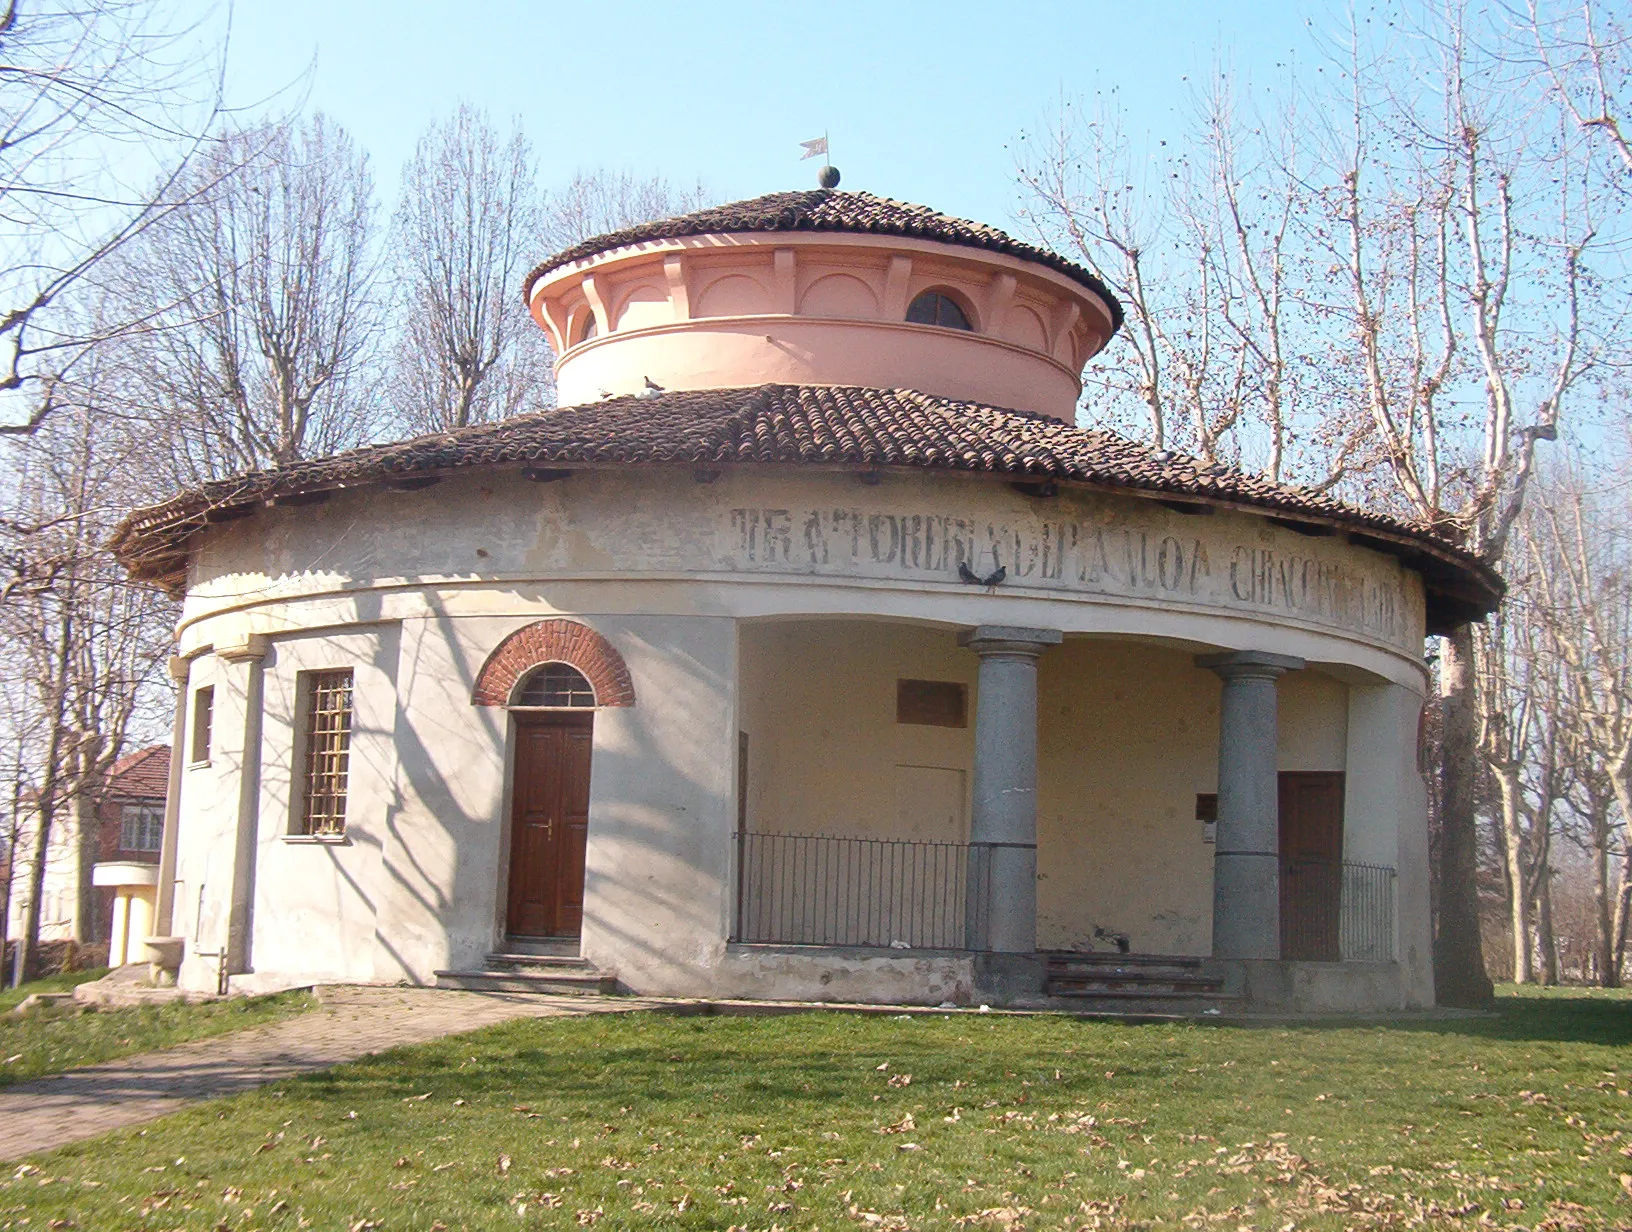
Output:
[[[826,188],[597,237],[534,269],[526,295],[563,406],[650,385],[860,385],[1071,423],[1084,364],[1121,323],[1054,253]]]

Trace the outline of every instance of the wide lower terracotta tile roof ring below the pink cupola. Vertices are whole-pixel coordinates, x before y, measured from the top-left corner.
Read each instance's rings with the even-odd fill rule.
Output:
[[[132,512],[113,547],[135,576],[180,587],[188,537],[211,521],[367,483],[416,486],[468,467],[530,468],[832,467],[934,470],[1244,507],[1315,534],[1340,529],[1404,558],[1441,596],[1439,610],[1477,618],[1500,578],[1452,540],[1386,512],[1027,411],[855,385],[757,385],[667,392],[521,414],[454,432],[370,445],[282,470],[251,472]]]

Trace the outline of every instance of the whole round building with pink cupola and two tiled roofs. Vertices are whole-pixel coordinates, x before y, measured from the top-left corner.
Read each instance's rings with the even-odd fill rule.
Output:
[[[312,981],[1433,1002],[1423,638],[1500,581],[1074,426],[1085,269],[865,193],[526,282],[560,406],[183,493],[157,930]]]

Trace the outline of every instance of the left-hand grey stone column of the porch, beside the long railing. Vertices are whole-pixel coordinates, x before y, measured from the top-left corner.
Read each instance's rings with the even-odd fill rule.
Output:
[[[965,945],[1036,950],[1036,661],[1061,633],[981,625],[958,636],[981,656]]]

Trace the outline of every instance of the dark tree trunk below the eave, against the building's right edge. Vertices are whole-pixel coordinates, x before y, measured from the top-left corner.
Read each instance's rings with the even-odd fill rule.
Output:
[[[1479,698],[1474,694],[1474,630],[1443,638],[1439,707],[1439,927],[1433,938],[1435,999],[1483,1008],[1495,997],[1479,938]],[[1523,893],[1523,891],[1521,891]]]

